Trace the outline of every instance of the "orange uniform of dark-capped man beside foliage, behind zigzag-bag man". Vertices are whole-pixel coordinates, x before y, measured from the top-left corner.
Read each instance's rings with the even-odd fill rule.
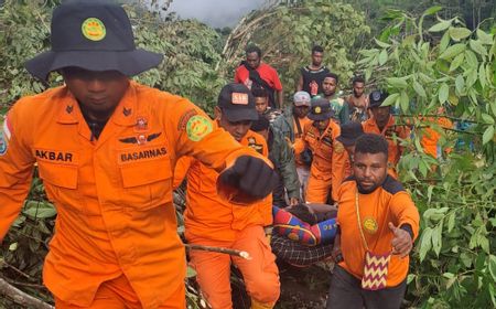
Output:
[[[410,130],[406,126],[397,126],[395,125],[395,117],[389,116],[389,120],[387,125],[379,130],[377,127],[376,120],[374,118],[368,119],[367,121],[362,122],[362,127],[364,128],[364,132],[366,134],[376,134],[384,136],[388,141],[388,163],[389,169],[388,172],[398,178],[396,172],[396,167],[398,164],[399,159],[401,158],[401,153],[403,152],[403,148],[400,146],[399,139],[407,139],[410,136]]]

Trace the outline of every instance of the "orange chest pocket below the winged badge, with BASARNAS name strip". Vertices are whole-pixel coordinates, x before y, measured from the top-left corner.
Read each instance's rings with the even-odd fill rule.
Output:
[[[148,210],[172,202],[172,167],[165,147],[119,152],[125,206]]]

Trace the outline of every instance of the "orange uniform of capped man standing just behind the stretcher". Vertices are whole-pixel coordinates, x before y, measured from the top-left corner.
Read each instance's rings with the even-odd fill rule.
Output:
[[[308,147],[313,153],[306,188],[308,202],[326,203],[330,193],[334,201],[337,199],[337,189],[345,178],[348,160],[344,146],[336,140],[339,134],[339,126],[332,120],[322,134],[309,124],[302,142],[295,146],[295,149]]]

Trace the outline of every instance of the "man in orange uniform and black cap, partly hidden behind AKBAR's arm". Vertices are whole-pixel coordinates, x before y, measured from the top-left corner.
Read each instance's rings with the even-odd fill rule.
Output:
[[[226,85],[215,107],[215,118],[220,128],[228,131],[247,149],[255,149],[268,157],[265,138],[251,130],[251,121],[258,119],[255,98],[244,84]],[[251,207],[239,206],[220,199],[216,193],[218,172],[201,161],[183,157],[174,173],[179,185],[187,180],[185,236],[190,244],[246,251],[251,259],[226,254],[192,251],[191,264],[196,270],[200,287],[213,309],[233,308],[230,264],[242,274],[251,308],[272,308],[279,298],[279,271],[276,256],[265,234],[265,226],[272,224],[271,196]],[[266,183],[260,178],[260,183]]]

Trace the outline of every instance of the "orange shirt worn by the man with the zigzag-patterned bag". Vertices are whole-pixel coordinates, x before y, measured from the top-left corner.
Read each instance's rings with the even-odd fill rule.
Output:
[[[344,269],[358,279],[364,275],[365,245],[358,227],[355,194],[357,191],[354,178],[343,182],[338,192],[339,209],[337,223],[341,228],[341,251]],[[419,234],[419,211],[408,192],[392,177],[386,179],[384,184],[369,194],[358,195],[362,228],[367,246],[374,254],[387,254],[392,251],[392,232],[388,227],[391,222],[395,226],[409,224],[413,232],[413,241]],[[389,262],[387,287],[399,285],[408,274],[410,258],[392,255]]]

